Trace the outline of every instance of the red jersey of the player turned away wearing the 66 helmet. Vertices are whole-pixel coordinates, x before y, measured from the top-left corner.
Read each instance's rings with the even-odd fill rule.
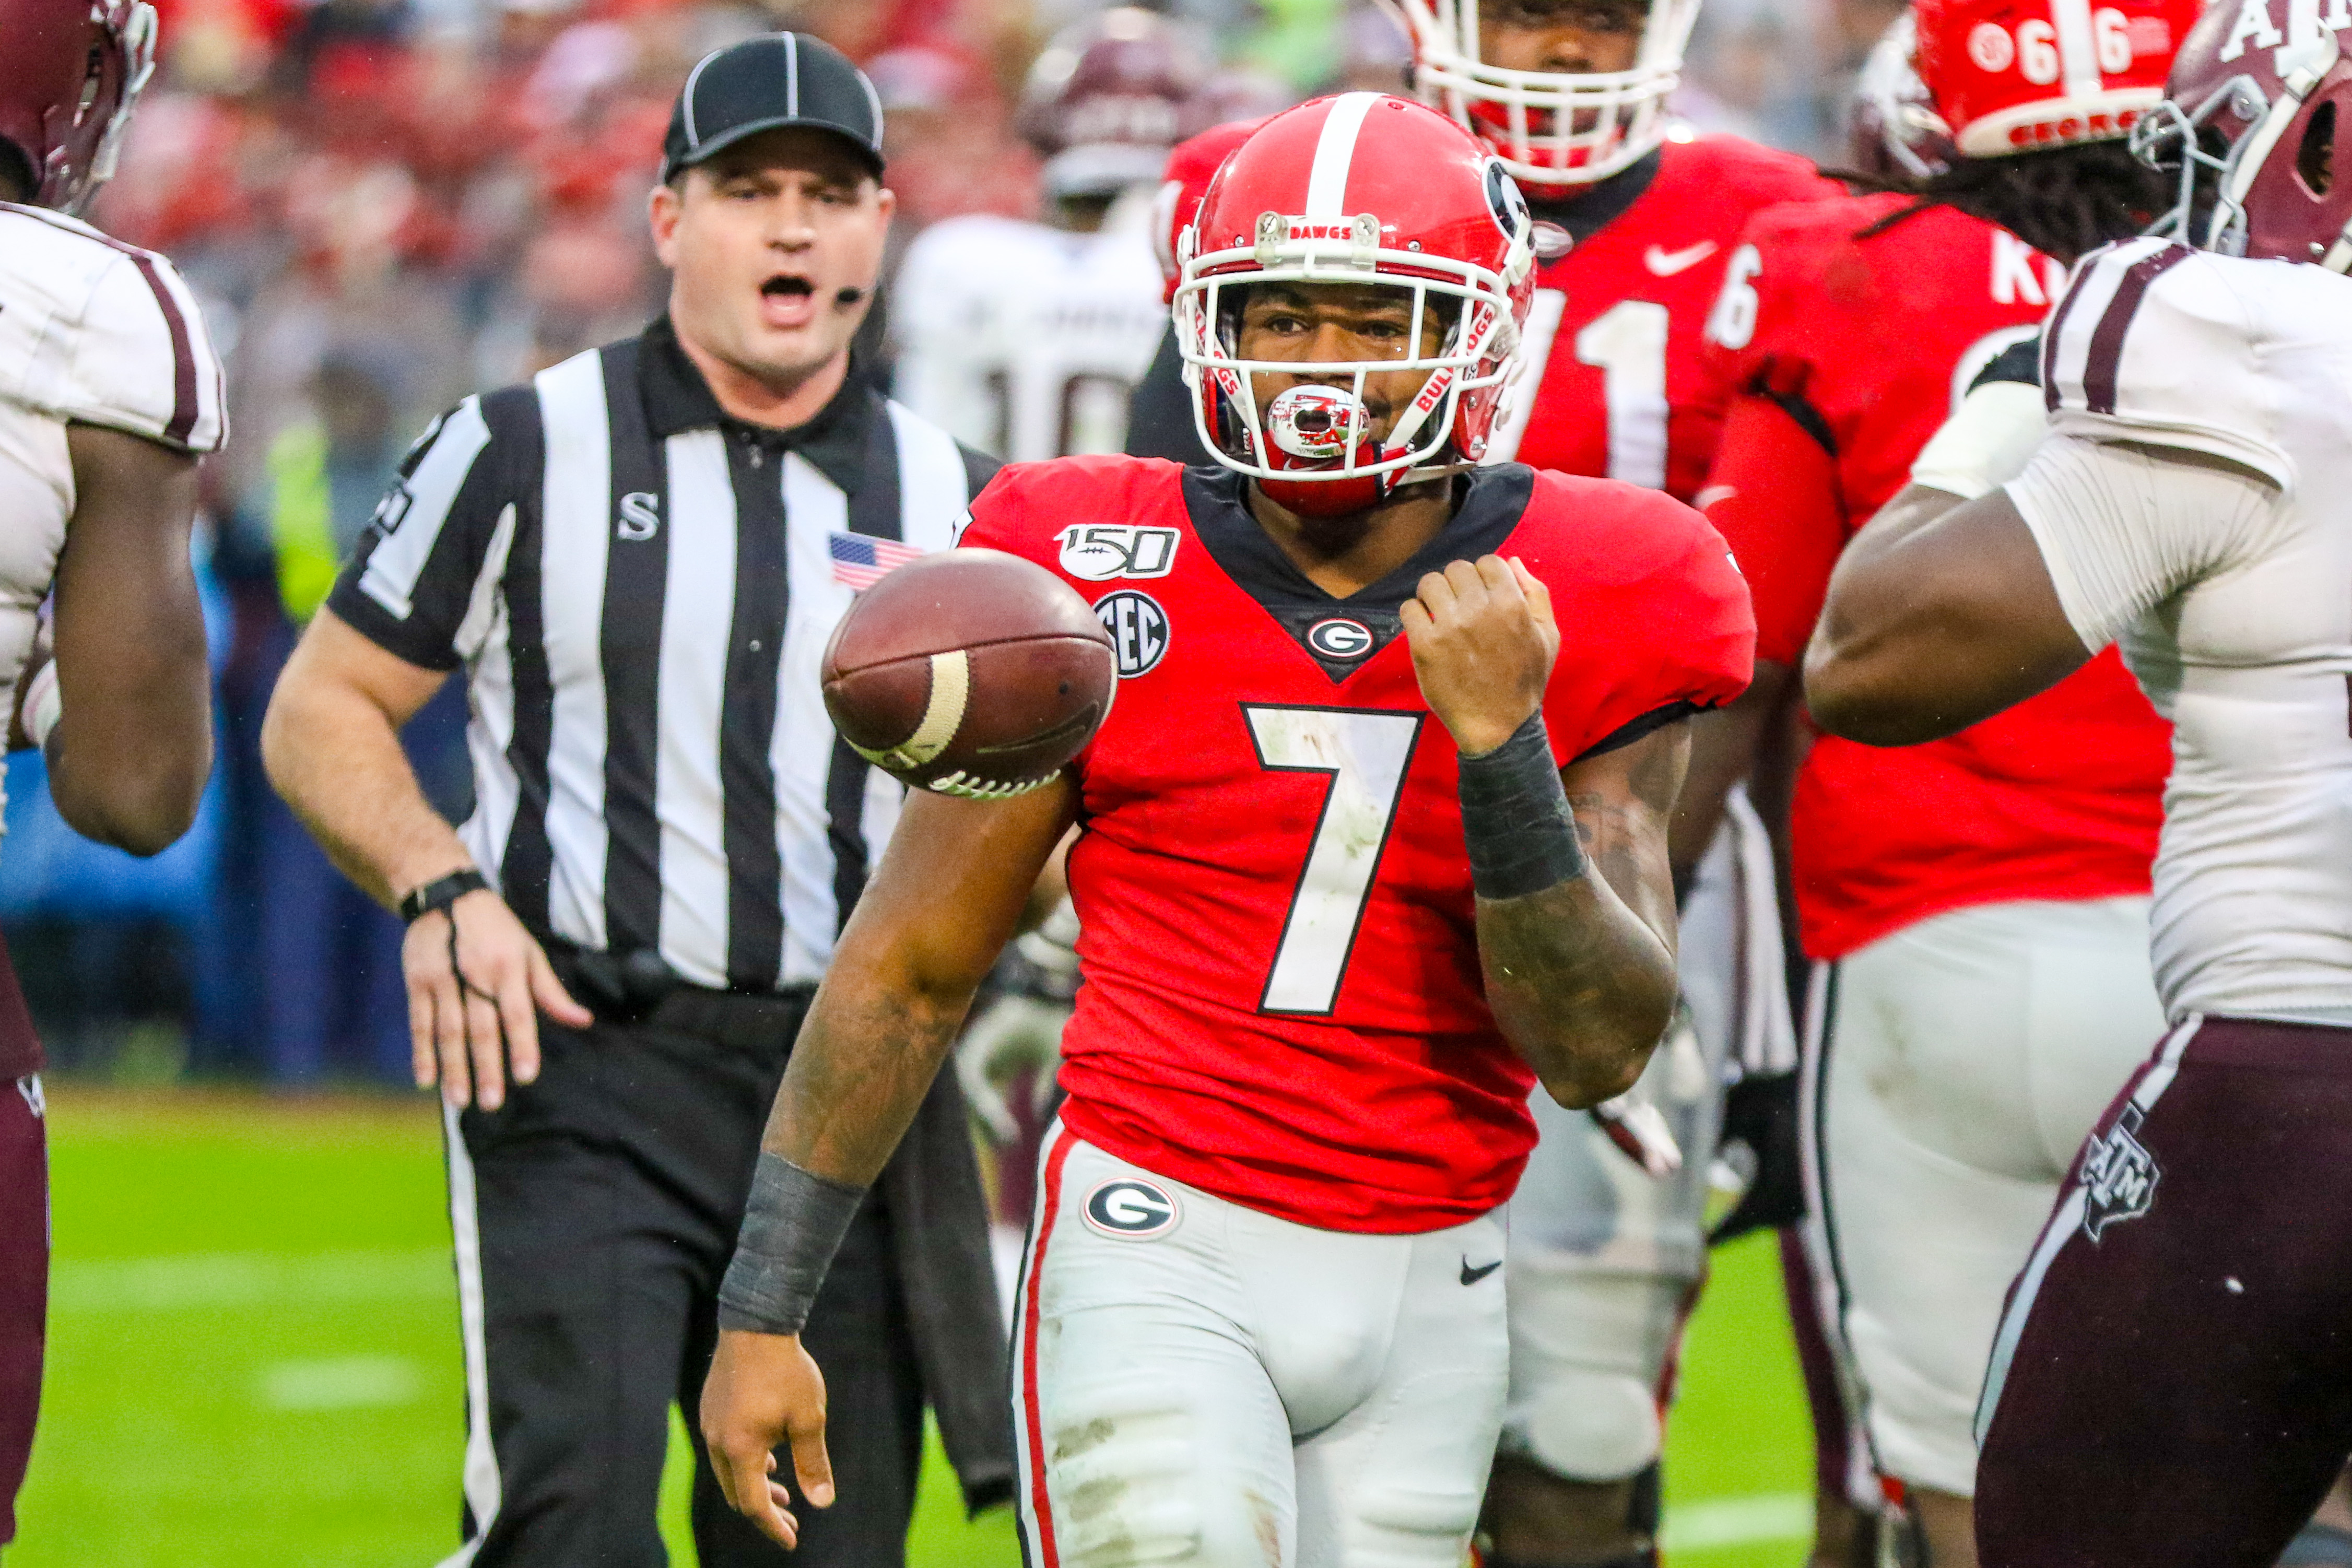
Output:
[[[1863,237],[1903,205],[1757,216],[1708,324],[1740,388],[1708,517],[1755,592],[1759,658],[1802,661],[1839,550],[2065,282],[2049,256],[1947,207]],[[2145,893],[2169,769],[2171,731],[2114,649],[1945,741],[1820,736],[1790,806],[1804,950],[1835,959],[1978,903]]]

